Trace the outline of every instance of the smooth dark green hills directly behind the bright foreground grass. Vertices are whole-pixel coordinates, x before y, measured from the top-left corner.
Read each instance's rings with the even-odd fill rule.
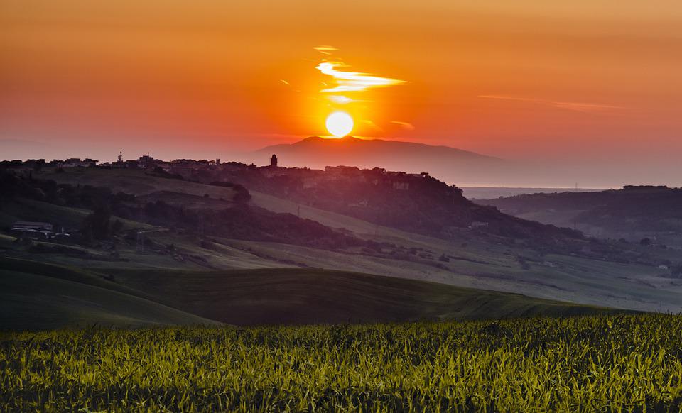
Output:
[[[158,324],[316,324],[615,310],[315,268],[84,270],[0,259],[0,330]]]

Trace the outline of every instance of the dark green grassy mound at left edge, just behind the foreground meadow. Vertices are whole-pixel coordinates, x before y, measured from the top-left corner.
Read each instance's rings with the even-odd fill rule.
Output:
[[[147,299],[91,272],[0,260],[0,329],[217,324]]]

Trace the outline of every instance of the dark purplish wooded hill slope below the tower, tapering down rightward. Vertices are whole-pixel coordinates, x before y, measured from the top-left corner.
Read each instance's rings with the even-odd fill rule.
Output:
[[[583,240],[577,231],[524,221],[494,207],[475,204],[462,196],[460,188],[428,174],[380,168],[330,167],[321,171],[244,165],[216,172],[208,179],[239,182],[249,189],[317,209],[445,239],[473,227],[492,236],[543,246]]]

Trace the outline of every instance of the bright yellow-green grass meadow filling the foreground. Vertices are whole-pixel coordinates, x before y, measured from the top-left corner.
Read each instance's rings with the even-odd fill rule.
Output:
[[[674,411],[682,316],[0,336],[0,411]]]

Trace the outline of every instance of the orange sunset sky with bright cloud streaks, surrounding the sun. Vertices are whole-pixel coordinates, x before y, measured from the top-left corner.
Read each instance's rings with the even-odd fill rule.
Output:
[[[682,184],[679,1],[3,0],[0,24],[0,158],[227,159],[343,110],[354,136]]]

